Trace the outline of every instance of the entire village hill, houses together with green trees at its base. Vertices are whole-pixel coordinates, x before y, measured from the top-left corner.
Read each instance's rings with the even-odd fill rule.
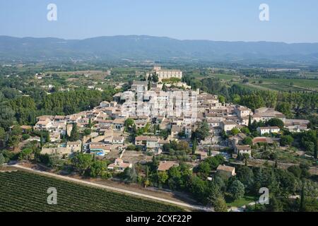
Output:
[[[61,93],[71,93],[67,102],[47,95],[48,107],[76,113],[29,114],[32,123],[10,126],[6,162],[128,191],[178,191],[216,211],[247,205],[264,188],[274,201],[258,210],[277,210],[279,197],[298,197],[301,178],[312,189],[308,196],[316,196],[310,178],[317,175],[317,137],[310,120],[277,107],[232,103],[195,88],[180,70],[154,66],[138,78],[112,90]],[[248,100],[253,106],[257,96]],[[76,105],[85,108],[76,111]]]

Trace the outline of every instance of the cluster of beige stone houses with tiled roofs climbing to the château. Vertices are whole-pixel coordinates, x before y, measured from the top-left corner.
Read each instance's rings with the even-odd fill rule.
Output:
[[[123,105],[129,98],[142,95],[141,105],[151,101],[151,94],[171,92],[194,93],[187,84],[181,82],[182,71],[162,70],[155,67],[147,78],[157,76],[155,81],[134,81],[131,89],[114,95],[112,102],[101,102],[89,111],[67,116],[37,117],[34,128],[49,132],[49,140],[42,147],[42,154],[70,156],[76,152],[90,153],[96,157],[112,160],[108,169],[123,172],[138,162],[150,161],[151,156],[169,152],[172,141],[188,145],[189,160],[195,167],[208,156],[223,155],[225,160],[248,155],[253,157],[257,144],[279,145],[281,129],[290,132],[307,131],[307,120],[286,119],[285,115],[271,108],[251,109],[220,102],[216,95],[196,90],[196,118],[187,115],[170,115],[163,111],[156,115],[136,116],[126,111]],[[163,83],[165,81],[165,83]],[[175,105],[177,105],[175,103]],[[166,109],[167,106],[163,107]],[[135,112],[134,112],[135,113]],[[283,121],[275,126],[255,128],[254,138],[247,131],[259,122]],[[22,126],[22,129],[31,129]],[[252,131],[249,131],[250,133]],[[83,133],[81,139],[65,141],[72,133]],[[199,133],[199,135],[197,135]],[[273,136],[271,136],[273,135]],[[275,136],[276,135],[276,136]],[[67,140],[67,139],[66,139]],[[168,149],[168,150],[167,150]],[[139,151],[140,150],[140,151]],[[167,170],[178,165],[178,161],[162,161],[158,170]],[[232,167],[223,170],[234,170]]]

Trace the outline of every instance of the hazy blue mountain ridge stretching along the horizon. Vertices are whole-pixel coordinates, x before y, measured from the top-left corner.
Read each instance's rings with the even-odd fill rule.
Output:
[[[220,42],[128,35],[64,40],[0,36],[0,60],[184,60],[318,62],[318,43]]]

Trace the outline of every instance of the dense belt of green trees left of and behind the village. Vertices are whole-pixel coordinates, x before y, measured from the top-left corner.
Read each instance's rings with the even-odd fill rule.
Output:
[[[103,100],[112,100],[117,91],[78,89],[44,95],[40,100],[31,96],[18,96],[13,99],[0,93],[0,126],[8,129],[16,121],[18,124],[35,124],[40,115],[69,115],[100,105]]]

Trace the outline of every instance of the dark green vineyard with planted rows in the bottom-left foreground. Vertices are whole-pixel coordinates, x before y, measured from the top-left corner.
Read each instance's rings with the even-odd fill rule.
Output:
[[[47,189],[57,189],[57,205],[47,204]],[[175,206],[95,189],[29,172],[0,172],[0,212],[161,212]]]

